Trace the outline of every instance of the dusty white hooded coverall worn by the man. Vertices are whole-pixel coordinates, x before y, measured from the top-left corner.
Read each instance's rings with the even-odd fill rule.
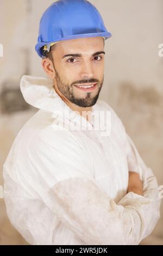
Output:
[[[111,114],[109,136],[102,136],[104,124],[84,130],[95,119],[71,111],[51,80],[23,76],[20,88],[39,111],[18,132],[3,166],[12,225],[33,245],[139,244],[160,217],[158,184],[113,109],[102,100],[93,106]],[[63,112],[74,129],[63,126]],[[139,172],[143,196],[127,193],[129,170]]]

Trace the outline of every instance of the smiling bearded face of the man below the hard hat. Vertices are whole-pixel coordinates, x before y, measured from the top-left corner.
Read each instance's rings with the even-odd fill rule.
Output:
[[[95,105],[104,80],[103,51],[102,37],[60,41],[55,45],[54,88],[62,99],[80,107]]]

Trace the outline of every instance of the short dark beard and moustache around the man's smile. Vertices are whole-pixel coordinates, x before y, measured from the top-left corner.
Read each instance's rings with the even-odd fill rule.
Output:
[[[54,63],[53,63],[53,66],[54,66]],[[104,76],[103,76],[102,81],[90,78],[90,79],[87,79],[87,80],[76,81],[76,82],[73,82],[71,84],[65,84],[61,80],[61,78],[60,78],[57,70],[55,69],[55,67],[54,67],[54,70],[55,70],[55,73],[56,73],[56,78],[55,79],[56,79],[56,82],[57,82],[58,90],[68,100],[70,100],[72,103],[78,105],[79,107],[91,107],[91,106],[96,104],[96,102],[98,100],[98,97],[99,97],[99,93],[101,92],[101,89],[102,89]],[[98,88],[98,91],[97,91],[96,95],[92,96],[91,92],[86,93],[86,96],[84,98],[74,95],[74,92],[73,92],[74,84],[83,84],[83,83],[84,84],[86,84],[86,83],[97,83],[96,86]]]

